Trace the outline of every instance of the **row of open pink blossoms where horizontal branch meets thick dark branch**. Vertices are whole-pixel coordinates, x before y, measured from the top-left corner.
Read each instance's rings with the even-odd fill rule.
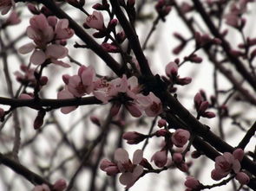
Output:
[[[82,66],[79,68],[77,75],[62,76],[66,84],[61,92],[58,92],[58,99],[81,98],[85,94],[93,93],[96,99],[103,104],[112,102],[111,113],[115,116],[124,105],[130,114],[139,118],[142,111],[145,111],[148,117],[158,116],[162,112],[161,100],[153,92],[148,96],[141,93],[141,87],[135,76],[127,79],[126,75],[122,78],[107,81],[95,77],[95,71],[92,67]],[[63,107],[62,113],[69,113],[75,110],[75,106]]]

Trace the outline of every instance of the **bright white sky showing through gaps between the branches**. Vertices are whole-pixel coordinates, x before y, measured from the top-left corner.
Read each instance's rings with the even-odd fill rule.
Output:
[[[88,1],[87,3],[92,2],[92,1]],[[98,3],[100,1],[93,1],[95,3]],[[187,2],[190,2],[189,0],[187,0]],[[148,5],[146,6],[146,9],[144,10],[145,13],[150,11],[150,9],[153,8],[153,5]],[[18,8],[19,10],[19,8]],[[253,14],[254,16],[252,16],[252,18],[255,19],[256,16],[256,7],[250,7],[251,14]],[[89,9],[89,12],[92,12]],[[69,12],[69,14],[71,14],[72,16],[77,16],[77,19],[79,20],[79,15],[77,14],[77,12]],[[18,36],[21,33],[23,33],[24,29],[26,29],[26,27],[28,26],[28,19],[30,18],[30,12],[28,10],[24,10],[23,13],[23,18],[26,18],[26,20],[23,20],[23,22],[17,26],[13,26],[10,27],[10,29],[8,29],[9,35],[11,36]],[[80,14],[81,16],[81,14]],[[82,15],[83,16],[83,15]],[[2,16],[1,16],[2,18]],[[81,18],[81,17],[80,17]],[[85,18],[83,18],[80,23],[82,23],[84,21]],[[199,22],[201,22],[200,20],[198,20]],[[248,21],[250,22],[250,21]],[[255,21],[254,21],[255,22]],[[254,23],[251,21],[251,23]],[[137,33],[140,36],[140,40],[144,41],[145,39],[145,34],[148,35],[148,31],[151,28],[151,22],[148,23],[141,23],[139,22],[137,25]],[[246,34],[250,35],[252,37],[256,36],[256,30],[253,29],[253,24],[247,26],[248,29],[246,29]],[[228,35],[228,39],[230,39],[234,44],[237,44],[240,42],[240,37],[238,37],[238,34],[236,33],[236,31],[234,31],[231,28],[229,29],[229,35]],[[89,30],[89,31],[93,31],[93,30]],[[172,54],[172,49],[179,43],[179,41],[174,40],[173,37],[173,33],[180,31],[182,35],[189,37],[191,36],[190,33],[188,33],[187,31],[187,27],[184,26],[183,22],[177,17],[176,12],[173,10],[171,12],[171,14],[169,16],[167,16],[167,22],[166,23],[160,23],[157,26],[157,30],[154,32],[154,35],[152,36],[151,40],[148,42],[148,46],[154,44],[154,52],[153,51],[145,51],[145,54],[148,57],[148,60],[150,62],[150,64],[152,64],[152,69],[154,71],[154,73],[160,73],[160,74],[164,74],[164,67],[167,65],[167,63],[169,61],[174,60],[175,58],[183,58],[184,55],[190,54],[191,51],[194,48],[194,42],[190,42],[189,46],[181,52],[181,55],[177,56]],[[2,33],[2,31],[1,31]],[[189,35],[187,35],[189,34]],[[16,48],[21,47],[23,44],[27,43],[31,41],[29,38],[24,38],[23,41],[19,41],[16,44]],[[69,45],[71,45],[70,47],[72,47],[72,45],[77,41],[77,39],[75,37],[73,37],[71,40],[69,40]],[[79,42],[79,41],[78,41]],[[86,64],[86,65],[93,65],[96,66],[96,71],[97,73],[100,73],[102,75],[107,74],[106,73],[106,67],[102,67],[104,66],[104,63],[102,63],[102,60],[98,59],[94,54],[91,54],[90,51],[88,50],[83,50],[83,49],[75,49],[75,48],[70,48],[69,49],[70,55],[72,55],[72,57],[75,58],[75,60],[79,60],[82,63]],[[198,54],[202,54],[202,51],[199,51]],[[89,60],[87,59],[87,56],[89,55]],[[29,58],[29,56],[27,57]],[[207,91],[207,96],[209,97],[212,93],[213,93],[213,81],[212,81],[212,76],[213,76],[213,65],[211,63],[208,63],[206,57],[204,57],[204,61],[202,64],[200,65],[194,65],[194,64],[190,64],[187,63],[186,65],[184,65],[183,67],[181,67],[181,70],[179,70],[179,73],[181,75],[181,77],[186,77],[186,76],[190,76],[190,77],[194,77],[193,78],[193,82],[191,85],[189,86],[184,86],[179,88],[180,94],[179,94],[179,98],[181,98],[181,103],[183,105],[186,105],[187,109],[189,109],[189,111],[192,111],[192,113],[194,113],[193,110],[193,98],[194,98],[194,94],[196,92],[198,92],[200,89],[204,89]],[[2,60],[0,59],[0,61],[2,62]],[[10,69],[13,70],[13,72],[18,68],[18,65],[16,64],[16,58],[13,57],[9,57],[9,64],[10,64]],[[73,64],[71,64],[73,65]],[[2,68],[3,64],[1,63],[0,65],[0,80],[3,81],[3,68]],[[108,69],[107,69],[108,70]],[[69,74],[75,74],[77,71],[77,67],[71,68],[71,69],[65,69],[62,67],[56,67],[56,66],[50,66],[47,69],[47,73],[49,73],[48,77],[49,77],[49,85],[47,86],[47,88],[44,88],[44,95],[47,98],[52,98],[55,99],[56,98],[56,89],[60,86],[63,85],[62,82],[62,74],[63,73],[69,73]],[[192,75],[193,73],[193,75]],[[220,80],[221,80],[221,85],[222,86],[226,86],[226,88],[229,88],[229,83],[226,82],[226,80],[224,78],[222,78],[221,75],[220,76]],[[17,86],[15,84],[15,76],[13,77],[13,81],[14,81],[14,86],[16,89]],[[1,97],[6,97],[6,89],[2,88],[0,90],[0,96]],[[2,106],[2,105],[1,105]],[[109,106],[109,105],[107,105]],[[83,107],[87,107],[87,106],[83,106]],[[106,107],[106,106],[105,106]],[[231,112],[235,112],[235,111],[241,111],[243,110],[244,105],[234,105],[231,109]],[[84,108],[83,108],[84,109]],[[35,135],[35,131],[32,128],[32,123],[33,123],[33,119],[36,117],[36,112],[32,111],[30,109],[19,109],[19,110],[23,110],[26,111],[27,113],[24,113],[25,117],[22,119],[22,121],[26,121],[26,123],[31,123],[30,124],[30,128],[26,128],[23,130],[22,132],[22,140],[26,139],[27,137],[33,137],[33,135]],[[74,124],[74,122],[78,119],[81,118],[81,109],[78,109],[72,113],[70,113],[69,115],[63,115],[62,113],[60,113],[60,111],[56,111],[55,112],[57,117],[60,119],[61,124],[63,124],[63,126],[67,128],[67,130],[69,129],[69,125],[70,124]],[[248,116],[248,118],[254,118],[254,114],[255,110],[248,110],[246,111],[244,114],[245,116]],[[195,113],[194,113],[195,114]],[[131,119],[132,120],[132,119]],[[205,119],[205,120],[201,120],[203,123],[209,124],[209,126],[213,127],[213,131],[214,129],[217,130],[217,123],[215,119]],[[92,125],[92,124],[88,124],[88,125]],[[150,124],[148,124],[148,126],[150,126]],[[234,131],[237,131],[237,128],[233,128],[233,125],[230,124],[230,121],[226,121],[225,125],[225,132],[228,133],[233,133],[234,136],[230,136],[227,137],[227,143],[230,143],[231,145],[235,146],[238,143],[238,140],[240,140],[244,133],[234,133]],[[79,127],[75,129],[74,132],[72,132],[72,134],[70,135],[70,137],[77,137],[75,138],[76,142],[75,144],[78,145],[82,145],[81,141],[83,140],[83,136],[85,135],[91,135],[91,137],[95,136],[95,128],[96,127],[87,127],[87,129],[84,128],[84,124],[80,123]],[[155,128],[156,129],[156,128]],[[10,130],[9,130],[10,131]],[[145,128],[136,128],[136,126],[134,125],[133,128],[128,129],[127,131],[139,131],[139,132],[148,132],[148,129]],[[241,132],[241,131],[239,131]],[[26,167],[30,167],[30,162],[35,163],[38,162],[41,165],[47,165],[47,162],[49,162],[49,160],[47,160],[47,153],[49,152],[49,150],[52,149],[53,145],[55,145],[56,143],[49,143],[49,139],[51,139],[52,141],[56,140],[57,136],[57,131],[53,128],[50,128],[50,125],[46,128],[46,130],[43,132],[45,133],[45,137],[48,137],[48,139],[45,139],[43,136],[39,136],[38,140],[36,140],[36,142],[38,143],[38,148],[42,148],[42,153],[43,153],[43,157],[42,160],[40,161],[33,161],[32,158],[30,157],[30,155],[32,155],[31,151],[28,150],[29,148],[27,148],[26,150],[22,150],[20,152],[20,160],[23,163],[24,166]],[[158,139],[158,140],[157,140]],[[246,149],[248,148],[253,148],[253,146],[255,145],[256,141],[255,141],[255,137],[253,137],[253,143],[250,143],[250,145],[248,145],[248,147],[246,147]],[[146,153],[145,156],[148,159],[148,161],[150,160],[151,156],[154,154],[155,151],[160,150],[160,148],[157,146],[159,145],[160,142],[160,138],[154,138],[152,141],[150,141],[147,149],[146,149]],[[141,149],[142,144],[138,144],[138,145],[128,145],[128,144],[124,144],[125,147],[129,150],[129,156],[132,157],[133,151],[137,150],[137,149]],[[6,149],[11,149],[11,145],[7,145]],[[4,149],[3,149],[4,150]],[[3,150],[1,149],[1,152],[3,152]],[[59,158],[65,158],[67,156],[70,156],[71,153],[66,153],[66,150],[64,150],[63,148],[61,148],[60,151],[61,154],[59,154]],[[109,154],[107,153],[107,155],[109,156]],[[214,181],[211,180],[210,178],[210,172],[213,169],[213,165],[214,163],[210,160],[207,160],[206,162],[198,162],[200,161],[200,159],[197,159],[194,161],[194,168],[200,168],[203,167],[204,171],[203,173],[200,175],[200,181],[202,183],[205,184],[211,184]],[[56,161],[57,163],[57,161]],[[70,173],[73,174],[72,170],[75,169],[76,167],[69,167],[70,168]],[[3,177],[3,174],[1,173],[1,171],[4,172],[9,172],[9,173],[4,173],[4,175],[6,175],[5,177]],[[31,170],[35,170],[36,169],[31,169]],[[193,171],[192,171],[193,172]],[[1,175],[2,174],[2,175]],[[193,174],[192,174],[193,175]],[[101,173],[101,177],[106,176],[105,173]],[[7,169],[3,166],[0,166],[0,178],[6,178],[6,179],[12,179],[13,173],[11,172],[10,169]],[[15,176],[16,177],[16,176]],[[154,190],[167,190],[169,188],[169,185],[171,184],[171,182],[169,181],[169,177],[175,177],[178,180],[184,180],[185,181],[185,175],[183,175],[181,172],[178,172],[178,170],[167,170],[166,172],[161,172],[161,174],[159,175],[145,175],[143,178],[141,178],[139,181],[137,181],[135,183],[135,185],[130,188],[130,191],[137,191],[137,190],[147,190],[147,191],[154,191]],[[53,181],[61,178],[60,175],[54,175],[53,176]],[[0,185],[1,185],[1,179],[0,179]],[[89,181],[89,175],[87,175],[87,173],[85,172],[83,175],[81,174],[79,176],[79,184],[82,185],[82,190],[86,190],[86,185],[87,182]],[[101,180],[98,180],[99,182]],[[22,182],[26,182],[24,179],[14,179],[13,180],[14,184],[16,185],[16,190],[20,190],[20,191],[25,191],[28,190],[28,188],[22,188],[20,187],[20,183]],[[174,182],[172,182],[172,184],[174,184]],[[26,184],[23,184],[26,185]],[[30,185],[30,183],[28,183],[27,185]],[[229,184],[231,185],[231,184]],[[30,186],[28,186],[30,188]],[[84,189],[83,189],[84,188]],[[120,184],[120,190],[123,187]],[[228,186],[225,187],[221,187],[221,188],[213,188],[211,190],[228,190],[227,189]],[[174,188],[172,188],[171,190],[173,191],[178,191],[178,190],[185,190],[185,187],[180,184],[180,186],[175,185]],[[0,190],[5,191],[6,188],[0,188]]]

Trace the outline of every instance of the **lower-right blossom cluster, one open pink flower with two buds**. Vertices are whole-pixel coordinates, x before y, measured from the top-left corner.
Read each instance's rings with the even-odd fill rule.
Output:
[[[222,156],[217,156],[215,158],[215,169],[212,171],[213,180],[219,181],[233,172],[236,174],[236,179],[240,181],[240,184],[248,183],[250,181],[249,176],[240,171],[240,162],[243,157],[244,150],[241,149],[234,150],[233,154],[225,152]]]

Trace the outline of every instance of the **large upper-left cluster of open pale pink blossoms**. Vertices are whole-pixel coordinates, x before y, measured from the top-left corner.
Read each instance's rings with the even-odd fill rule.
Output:
[[[56,16],[44,16],[43,14],[33,16],[30,19],[30,26],[27,28],[27,35],[34,41],[19,48],[21,54],[28,54],[33,51],[30,61],[35,65],[41,65],[45,61],[62,67],[69,67],[69,64],[61,60],[67,56],[69,50],[62,45],[74,35],[73,29],[69,29],[67,19],[57,20]]]

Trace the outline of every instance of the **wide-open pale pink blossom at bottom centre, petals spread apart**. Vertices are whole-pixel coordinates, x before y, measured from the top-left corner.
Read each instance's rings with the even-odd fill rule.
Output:
[[[126,185],[126,188],[132,187],[143,173],[143,167],[139,164],[142,159],[142,150],[135,150],[133,162],[129,160],[126,150],[115,150],[115,161],[117,162],[118,169],[121,171],[119,181],[121,184]]]

